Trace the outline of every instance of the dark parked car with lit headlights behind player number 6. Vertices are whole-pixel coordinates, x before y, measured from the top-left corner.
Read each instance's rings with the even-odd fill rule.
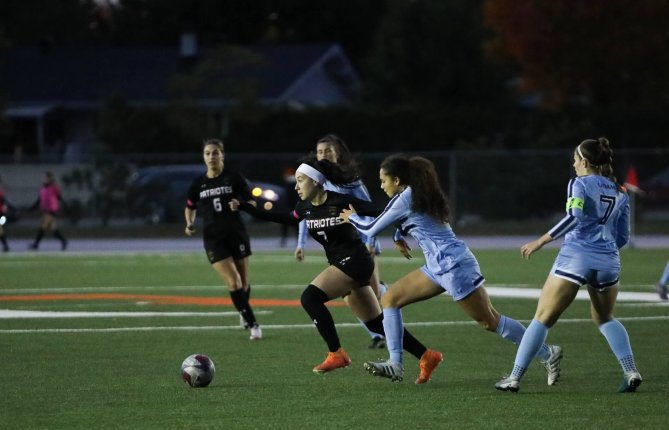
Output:
[[[151,224],[178,222],[184,218],[186,193],[197,176],[205,172],[201,164],[152,166],[138,169],[128,180],[128,212]],[[289,211],[289,199],[281,185],[249,180],[259,209]]]

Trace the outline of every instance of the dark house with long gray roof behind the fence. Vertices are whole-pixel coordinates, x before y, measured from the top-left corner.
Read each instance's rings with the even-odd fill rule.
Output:
[[[293,108],[334,106],[352,103],[360,87],[337,44],[199,49],[185,35],[180,47],[0,51],[0,116],[11,121],[20,150],[48,161],[76,161],[95,144],[96,118],[112,98],[158,107],[187,100],[223,118],[240,97]],[[0,156],[15,150],[0,148]]]

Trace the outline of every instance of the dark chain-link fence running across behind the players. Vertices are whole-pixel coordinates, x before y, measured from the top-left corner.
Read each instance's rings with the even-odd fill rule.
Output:
[[[571,150],[545,151],[433,151],[412,153],[432,160],[449,196],[453,220],[459,223],[479,220],[526,221],[561,216],[568,180],[573,176]],[[226,165],[254,181],[273,183],[290,190],[284,180],[294,169],[301,153],[226,154]],[[378,167],[390,153],[358,153],[363,179],[370,194],[380,202],[387,200],[379,188]],[[8,200],[18,206],[35,201],[44,171],[56,174],[69,203],[69,216],[85,218],[128,218],[128,184],[143,167],[157,165],[204,165],[197,153],[151,156],[107,156],[83,164],[0,164]],[[669,148],[621,150],[614,153],[618,181],[625,182],[635,169],[639,186],[645,191],[635,201],[639,220],[669,221]],[[172,191],[166,199],[185,199]],[[173,203],[172,203],[173,204]]]

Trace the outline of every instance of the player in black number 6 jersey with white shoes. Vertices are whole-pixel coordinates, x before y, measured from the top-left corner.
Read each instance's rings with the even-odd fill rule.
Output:
[[[237,211],[228,205],[231,199],[252,202],[251,190],[246,179],[238,172],[224,169],[223,141],[207,139],[203,146],[207,172],[196,178],[188,190],[186,202],[186,234],[195,233],[195,215],[204,219],[204,249],[207,258],[230,291],[230,298],[250,329],[250,339],[262,338],[249,296],[249,256],[251,246],[246,227]],[[249,203],[251,204],[251,203]]]

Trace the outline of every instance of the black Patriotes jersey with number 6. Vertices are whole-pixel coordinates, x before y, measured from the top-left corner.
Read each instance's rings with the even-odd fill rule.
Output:
[[[246,232],[238,211],[231,211],[232,199],[246,202],[252,199],[246,179],[238,172],[223,170],[215,178],[203,174],[196,178],[188,190],[186,206],[197,209],[204,220],[204,236],[221,236],[227,232]]]

